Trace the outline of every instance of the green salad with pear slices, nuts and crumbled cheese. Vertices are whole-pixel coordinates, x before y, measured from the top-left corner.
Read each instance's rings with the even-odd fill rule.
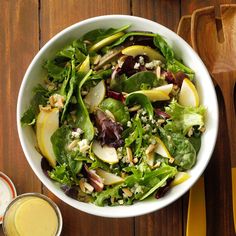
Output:
[[[92,30],[45,61],[21,117],[45,174],[98,206],[160,198],[186,180],[205,130],[194,71],[164,37],[129,27]]]

